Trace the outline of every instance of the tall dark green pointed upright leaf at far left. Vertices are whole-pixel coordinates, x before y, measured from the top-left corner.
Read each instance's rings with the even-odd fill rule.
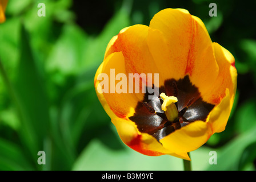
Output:
[[[21,57],[17,69],[14,88],[17,95],[17,107],[21,117],[19,130],[30,155],[37,159],[37,152],[43,150],[43,140],[49,133],[49,105],[42,75],[39,75],[29,35],[22,26]]]

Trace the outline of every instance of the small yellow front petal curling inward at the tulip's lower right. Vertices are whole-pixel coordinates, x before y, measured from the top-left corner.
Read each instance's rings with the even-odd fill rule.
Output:
[[[163,147],[177,154],[190,152],[201,147],[211,136],[210,126],[203,121],[195,121],[162,138]]]

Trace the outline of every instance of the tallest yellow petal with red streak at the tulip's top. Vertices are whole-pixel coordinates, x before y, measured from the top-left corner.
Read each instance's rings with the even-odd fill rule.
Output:
[[[189,75],[204,94],[217,78],[218,65],[202,21],[183,9],[165,9],[153,17],[150,28],[150,52],[156,63],[164,65],[158,67],[161,77],[178,80]]]

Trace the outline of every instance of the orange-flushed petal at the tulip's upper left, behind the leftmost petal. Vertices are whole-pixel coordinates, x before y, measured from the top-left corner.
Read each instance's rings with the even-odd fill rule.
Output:
[[[110,40],[105,57],[113,52],[122,52],[125,57],[126,72],[139,75],[150,73],[152,79],[142,81],[144,84],[147,82],[154,84],[154,73],[159,72],[147,46],[148,31],[149,27],[141,24],[123,28],[117,36]]]

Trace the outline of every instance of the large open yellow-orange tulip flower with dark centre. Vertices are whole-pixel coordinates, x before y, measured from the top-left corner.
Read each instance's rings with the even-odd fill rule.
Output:
[[[234,63],[227,49],[211,41],[201,19],[184,9],[165,9],[149,26],[126,27],[110,40],[94,86],[127,146],[190,160],[188,152],[225,130],[237,88]],[[120,75],[111,75],[113,69]],[[138,80],[124,79],[136,73],[141,92],[102,92],[130,88]],[[141,76],[148,73],[154,77]],[[102,74],[114,82],[107,85]]]

